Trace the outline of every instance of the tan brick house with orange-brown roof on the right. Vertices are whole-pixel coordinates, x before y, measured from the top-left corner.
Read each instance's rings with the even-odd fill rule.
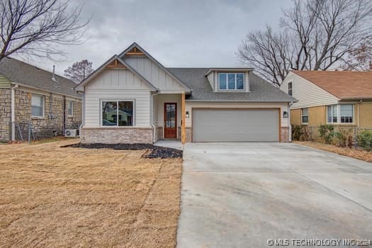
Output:
[[[293,125],[372,128],[372,72],[291,71],[280,89],[298,99]]]

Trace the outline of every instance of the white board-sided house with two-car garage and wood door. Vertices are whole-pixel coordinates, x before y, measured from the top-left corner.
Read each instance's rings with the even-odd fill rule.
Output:
[[[83,143],[288,142],[295,101],[250,68],[166,68],[137,43],[75,90],[84,94]],[[108,119],[112,111],[131,119]]]

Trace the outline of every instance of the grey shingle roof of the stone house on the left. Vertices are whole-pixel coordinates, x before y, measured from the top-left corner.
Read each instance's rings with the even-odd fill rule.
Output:
[[[74,91],[74,86],[77,84],[73,81],[57,74],[55,74],[56,80],[53,81],[52,72],[47,72],[44,69],[11,57],[4,57],[0,61],[0,74],[17,84],[30,86],[31,88],[42,91],[81,98],[81,95]]]

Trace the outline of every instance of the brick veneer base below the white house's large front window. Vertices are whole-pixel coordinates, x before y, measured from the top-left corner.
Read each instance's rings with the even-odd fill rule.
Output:
[[[83,144],[118,144],[149,143],[152,144],[152,128],[105,127],[81,128],[80,142]]]

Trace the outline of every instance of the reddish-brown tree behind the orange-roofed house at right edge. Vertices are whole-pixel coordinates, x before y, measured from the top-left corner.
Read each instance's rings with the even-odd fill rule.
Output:
[[[372,36],[348,52],[340,69],[372,72]]]

